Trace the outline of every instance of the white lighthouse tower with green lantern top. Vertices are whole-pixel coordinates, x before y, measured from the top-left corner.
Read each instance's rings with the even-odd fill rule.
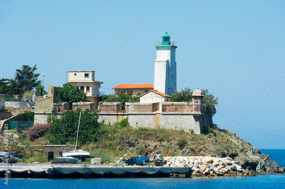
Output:
[[[154,90],[172,95],[176,90],[175,49],[177,42],[170,41],[170,36],[165,32],[162,41],[155,41],[155,47]]]

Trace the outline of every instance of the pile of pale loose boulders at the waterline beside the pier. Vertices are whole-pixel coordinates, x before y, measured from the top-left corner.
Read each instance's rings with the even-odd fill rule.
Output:
[[[166,167],[192,167],[192,176],[252,175],[230,157],[176,156],[165,157]]]

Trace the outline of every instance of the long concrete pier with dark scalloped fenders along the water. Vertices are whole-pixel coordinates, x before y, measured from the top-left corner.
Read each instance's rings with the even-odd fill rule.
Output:
[[[82,165],[82,164],[20,164],[9,167],[0,164],[0,176],[9,173],[10,177],[24,178],[92,178],[92,177],[167,177],[170,174],[190,177],[191,167],[148,167],[122,165]]]

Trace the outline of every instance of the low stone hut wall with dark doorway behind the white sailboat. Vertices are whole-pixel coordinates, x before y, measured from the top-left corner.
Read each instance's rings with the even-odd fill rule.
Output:
[[[80,146],[77,146],[78,149]],[[48,152],[53,152],[53,158],[57,159],[59,157],[63,157],[63,152],[72,151],[75,149],[75,146],[57,146],[57,145],[46,145],[44,146],[44,159],[48,161]],[[61,156],[60,156],[61,152]]]

